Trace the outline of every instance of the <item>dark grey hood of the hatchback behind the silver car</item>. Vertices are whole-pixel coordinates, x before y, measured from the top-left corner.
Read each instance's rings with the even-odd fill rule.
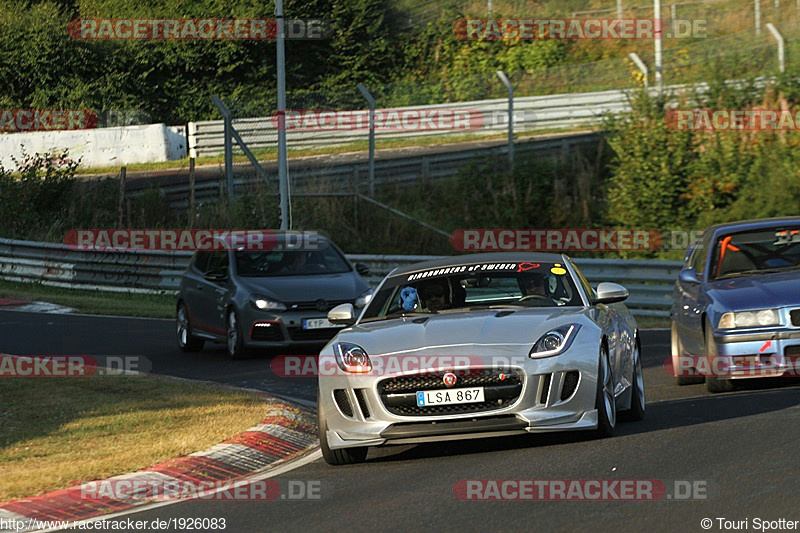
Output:
[[[354,300],[369,288],[361,276],[354,272],[240,279],[251,294],[267,296],[280,302]]]

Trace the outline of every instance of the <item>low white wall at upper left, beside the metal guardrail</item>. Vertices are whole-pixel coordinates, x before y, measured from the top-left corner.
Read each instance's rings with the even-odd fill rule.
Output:
[[[91,130],[38,131],[0,135],[0,165],[15,169],[11,156],[69,150],[86,167],[153,163],[186,157],[184,126],[164,124]]]

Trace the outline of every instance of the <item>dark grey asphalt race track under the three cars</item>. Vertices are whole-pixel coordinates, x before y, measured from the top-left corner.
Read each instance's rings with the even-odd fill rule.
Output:
[[[642,334],[648,396],[642,422],[611,439],[572,433],[387,447],[366,464],[321,460],[278,477],[319,482],[318,500],[188,501],[126,518],[225,518],[225,531],[724,531],[718,518],[800,520],[800,385],[750,382],[710,395],[676,387],[663,368],[667,331]],[[0,352],[18,355],[140,355],[156,373],[208,379],[310,400],[314,380],[275,376],[268,356],[231,362],[221,349],[183,354],[162,320],[0,312]],[[659,501],[462,501],[470,479],[661,480]],[[678,500],[675,481],[697,481],[704,499]],[[701,520],[711,518],[710,529]],[[205,529],[206,531],[214,531]],[[166,529],[162,531],[180,531]]]

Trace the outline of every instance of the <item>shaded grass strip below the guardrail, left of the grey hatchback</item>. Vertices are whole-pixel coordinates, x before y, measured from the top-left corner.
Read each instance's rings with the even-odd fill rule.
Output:
[[[176,301],[171,293],[121,294],[12,281],[0,281],[0,298],[50,302],[72,307],[79,313],[153,318],[173,318]]]

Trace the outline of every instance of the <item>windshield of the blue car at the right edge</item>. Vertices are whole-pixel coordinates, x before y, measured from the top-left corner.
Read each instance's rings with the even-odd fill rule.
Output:
[[[780,272],[800,267],[800,228],[771,228],[721,237],[714,248],[714,278]]]

